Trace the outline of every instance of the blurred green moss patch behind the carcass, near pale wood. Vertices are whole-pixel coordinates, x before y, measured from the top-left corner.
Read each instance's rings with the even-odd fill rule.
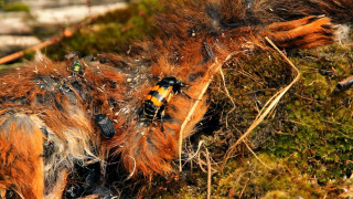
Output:
[[[45,54],[62,60],[72,51],[78,51],[83,56],[99,52],[121,52],[129,40],[142,40],[153,34],[151,17],[156,9],[158,0],[130,3],[126,10],[116,10],[95,19],[75,31],[72,38],[50,46]]]

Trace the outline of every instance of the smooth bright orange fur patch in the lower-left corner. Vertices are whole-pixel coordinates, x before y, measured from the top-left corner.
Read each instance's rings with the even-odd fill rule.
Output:
[[[29,198],[43,197],[43,134],[35,121],[24,114],[0,117],[1,192],[8,189]]]

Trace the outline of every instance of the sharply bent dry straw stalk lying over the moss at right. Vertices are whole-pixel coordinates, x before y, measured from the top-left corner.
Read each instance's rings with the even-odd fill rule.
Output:
[[[229,147],[229,149],[227,150],[225,158],[223,160],[223,164],[221,166],[221,169],[223,170],[225,164],[227,163],[229,156],[233,154],[233,151],[235,150],[235,147],[244,140],[245,137],[247,137],[252,130],[257,127],[264,119],[265,117],[276,107],[276,105],[278,104],[278,102],[280,101],[280,98],[287,93],[287,91],[296,83],[299,81],[300,78],[300,72],[299,70],[296,67],[295,64],[291,63],[291,61],[274,44],[274,42],[271,42],[267,36],[265,38],[266,41],[271,44],[274,46],[274,49],[289,63],[289,65],[291,67],[293,67],[297,72],[297,76],[296,78],[285,88],[280,90],[279,92],[277,92],[270,100],[267,101],[266,105],[263,107],[263,109],[260,111],[260,113],[258,114],[258,116],[256,117],[256,119],[254,121],[254,123],[250,125],[250,127],[245,132],[245,134],[243,134],[238,140],[232,146]]]

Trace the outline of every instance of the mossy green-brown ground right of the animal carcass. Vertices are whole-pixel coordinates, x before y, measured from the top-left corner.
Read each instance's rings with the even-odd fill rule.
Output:
[[[237,165],[227,164],[225,174],[217,177],[221,182],[215,196],[226,197],[231,188],[238,196],[244,187],[245,198],[256,195],[265,198],[275,195],[277,198],[320,198],[325,192],[335,198],[342,192],[340,189],[328,191],[325,187],[329,184],[340,187],[345,184],[343,178],[352,174],[353,93],[352,90],[335,91],[336,83],[353,73],[352,54],[352,46],[338,44],[288,52],[300,70],[301,78],[247,137],[257,154],[261,154],[260,158],[281,175],[271,175],[271,170],[254,164],[254,158],[250,161],[234,160],[233,164]],[[264,104],[295,76],[288,63],[277,53],[269,52],[233,63],[224,69],[224,74],[236,104],[235,111],[228,114],[233,105],[224,93],[220,93],[223,83],[221,78],[216,80],[212,85],[211,108],[221,115],[222,127],[213,137],[202,137],[218,161],[223,160],[224,151],[237,140],[239,133],[250,126]],[[244,146],[238,147],[235,156],[242,154],[248,155]],[[240,178],[242,174],[246,175]],[[315,182],[309,184],[312,179]]]

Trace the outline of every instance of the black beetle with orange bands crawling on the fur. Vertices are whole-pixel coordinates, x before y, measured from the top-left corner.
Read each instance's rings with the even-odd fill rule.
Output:
[[[165,103],[170,101],[172,94],[183,93],[182,87],[186,84],[174,76],[168,76],[160,80],[148,93],[143,101],[142,115],[149,122],[161,121],[161,130],[163,132],[163,116]],[[186,93],[185,96],[191,98]]]

